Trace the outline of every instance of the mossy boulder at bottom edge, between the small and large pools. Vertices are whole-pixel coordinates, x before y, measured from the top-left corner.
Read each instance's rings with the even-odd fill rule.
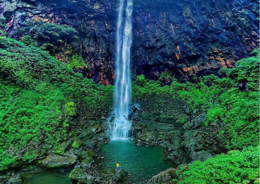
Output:
[[[84,183],[84,184],[91,184],[95,180],[95,177],[87,174],[86,172],[84,172],[84,169],[79,167],[71,171],[69,178],[73,182]]]

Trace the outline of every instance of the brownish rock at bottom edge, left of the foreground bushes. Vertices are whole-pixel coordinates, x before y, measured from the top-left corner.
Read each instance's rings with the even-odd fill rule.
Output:
[[[175,171],[175,168],[169,168],[166,171],[160,172],[158,175],[155,175],[150,180],[148,180],[147,184],[170,184],[171,180],[176,176]]]

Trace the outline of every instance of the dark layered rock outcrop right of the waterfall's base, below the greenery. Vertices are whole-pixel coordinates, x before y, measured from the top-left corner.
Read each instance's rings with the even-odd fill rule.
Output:
[[[222,123],[204,126],[205,112],[171,97],[143,99],[139,104],[131,118],[135,144],[164,147],[173,166],[225,152],[218,137]]]

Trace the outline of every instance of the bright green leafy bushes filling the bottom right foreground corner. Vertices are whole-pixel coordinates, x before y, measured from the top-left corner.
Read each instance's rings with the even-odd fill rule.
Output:
[[[259,183],[259,147],[230,151],[204,162],[195,161],[176,172],[173,183]]]

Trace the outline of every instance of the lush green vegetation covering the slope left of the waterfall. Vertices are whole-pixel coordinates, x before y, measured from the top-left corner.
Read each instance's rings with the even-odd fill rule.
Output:
[[[0,169],[15,163],[19,154],[31,160],[29,155],[35,158],[72,137],[72,124],[86,128],[86,122],[66,114],[76,107],[86,121],[106,114],[112,104],[111,86],[73,72],[29,44],[29,37],[23,41],[0,37]]]

